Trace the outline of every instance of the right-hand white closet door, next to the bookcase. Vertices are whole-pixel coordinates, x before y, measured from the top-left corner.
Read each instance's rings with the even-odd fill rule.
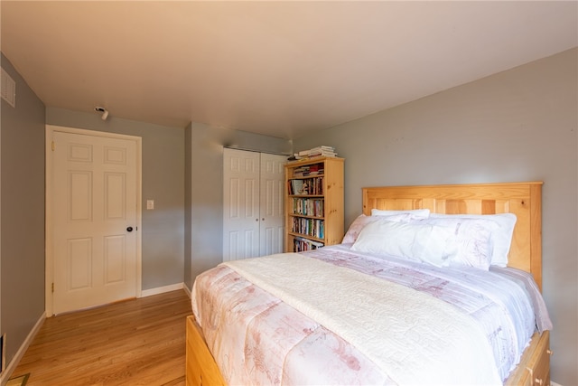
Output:
[[[259,255],[283,252],[285,155],[261,154]]]

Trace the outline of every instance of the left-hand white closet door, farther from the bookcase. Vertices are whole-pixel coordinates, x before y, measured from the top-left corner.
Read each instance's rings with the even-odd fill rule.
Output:
[[[259,256],[260,155],[224,149],[223,261]]]

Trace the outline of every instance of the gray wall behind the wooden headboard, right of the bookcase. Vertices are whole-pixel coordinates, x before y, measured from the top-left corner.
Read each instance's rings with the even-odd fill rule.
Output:
[[[345,160],[346,226],[361,187],[544,181],[543,293],[552,380],[578,384],[578,50],[448,89],[311,136]]]

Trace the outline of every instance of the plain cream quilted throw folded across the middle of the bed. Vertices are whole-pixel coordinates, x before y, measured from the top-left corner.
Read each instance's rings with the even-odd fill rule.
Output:
[[[223,264],[339,334],[398,384],[501,384],[480,326],[440,299],[296,253]]]

